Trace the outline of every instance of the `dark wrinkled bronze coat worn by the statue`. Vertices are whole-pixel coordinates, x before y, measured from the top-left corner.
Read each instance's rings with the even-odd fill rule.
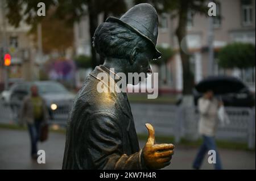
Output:
[[[144,169],[126,93],[97,91],[97,66],[69,115],[63,169]],[[109,88],[109,86],[107,86]]]

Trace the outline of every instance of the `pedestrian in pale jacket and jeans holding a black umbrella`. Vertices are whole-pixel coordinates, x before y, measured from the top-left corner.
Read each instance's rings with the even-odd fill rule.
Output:
[[[216,153],[216,164],[214,164],[214,167],[215,169],[222,169],[214,136],[218,124],[218,108],[223,106],[223,103],[222,100],[214,98],[214,94],[221,98],[221,95],[240,92],[246,86],[236,77],[210,76],[199,82],[195,88],[198,92],[203,93],[203,96],[198,101],[200,113],[199,133],[203,136],[203,144],[193,162],[193,168],[200,169],[204,155],[207,151],[214,150]]]

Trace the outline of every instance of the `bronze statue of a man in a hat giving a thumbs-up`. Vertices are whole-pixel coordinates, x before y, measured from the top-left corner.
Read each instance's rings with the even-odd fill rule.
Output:
[[[69,115],[63,169],[161,169],[170,164],[174,145],[155,144],[154,128],[139,149],[126,92],[99,92],[99,73],[151,72],[149,60],[159,58],[155,48],[158,15],[142,3],[120,19],[110,17],[94,33],[94,47],[105,58],[86,78]],[[116,81],[116,80],[115,80]],[[130,82],[132,83],[132,82]]]

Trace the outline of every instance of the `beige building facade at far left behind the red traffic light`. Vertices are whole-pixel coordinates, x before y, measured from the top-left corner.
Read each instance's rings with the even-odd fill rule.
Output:
[[[1,59],[3,55],[9,53],[11,55],[11,65],[7,68],[7,74],[9,80],[14,79],[32,79],[32,53],[33,43],[28,31],[28,26],[23,21],[20,22],[20,26],[15,28],[8,23],[5,18],[5,1],[0,1],[0,54]],[[4,69],[1,60],[0,66],[0,83],[1,85],[5,81]]]

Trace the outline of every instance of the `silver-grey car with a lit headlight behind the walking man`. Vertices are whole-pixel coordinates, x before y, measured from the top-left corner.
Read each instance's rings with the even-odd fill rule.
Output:
[[[54,119],[54,112],[68,113],[75,95],[55,81],[15,83],[10,89],[9,103],[15,112],[19,110],[23,99],[29,94],[30,87],[33,84],[38,87],[39,95],[46,100],[51,119]]]

